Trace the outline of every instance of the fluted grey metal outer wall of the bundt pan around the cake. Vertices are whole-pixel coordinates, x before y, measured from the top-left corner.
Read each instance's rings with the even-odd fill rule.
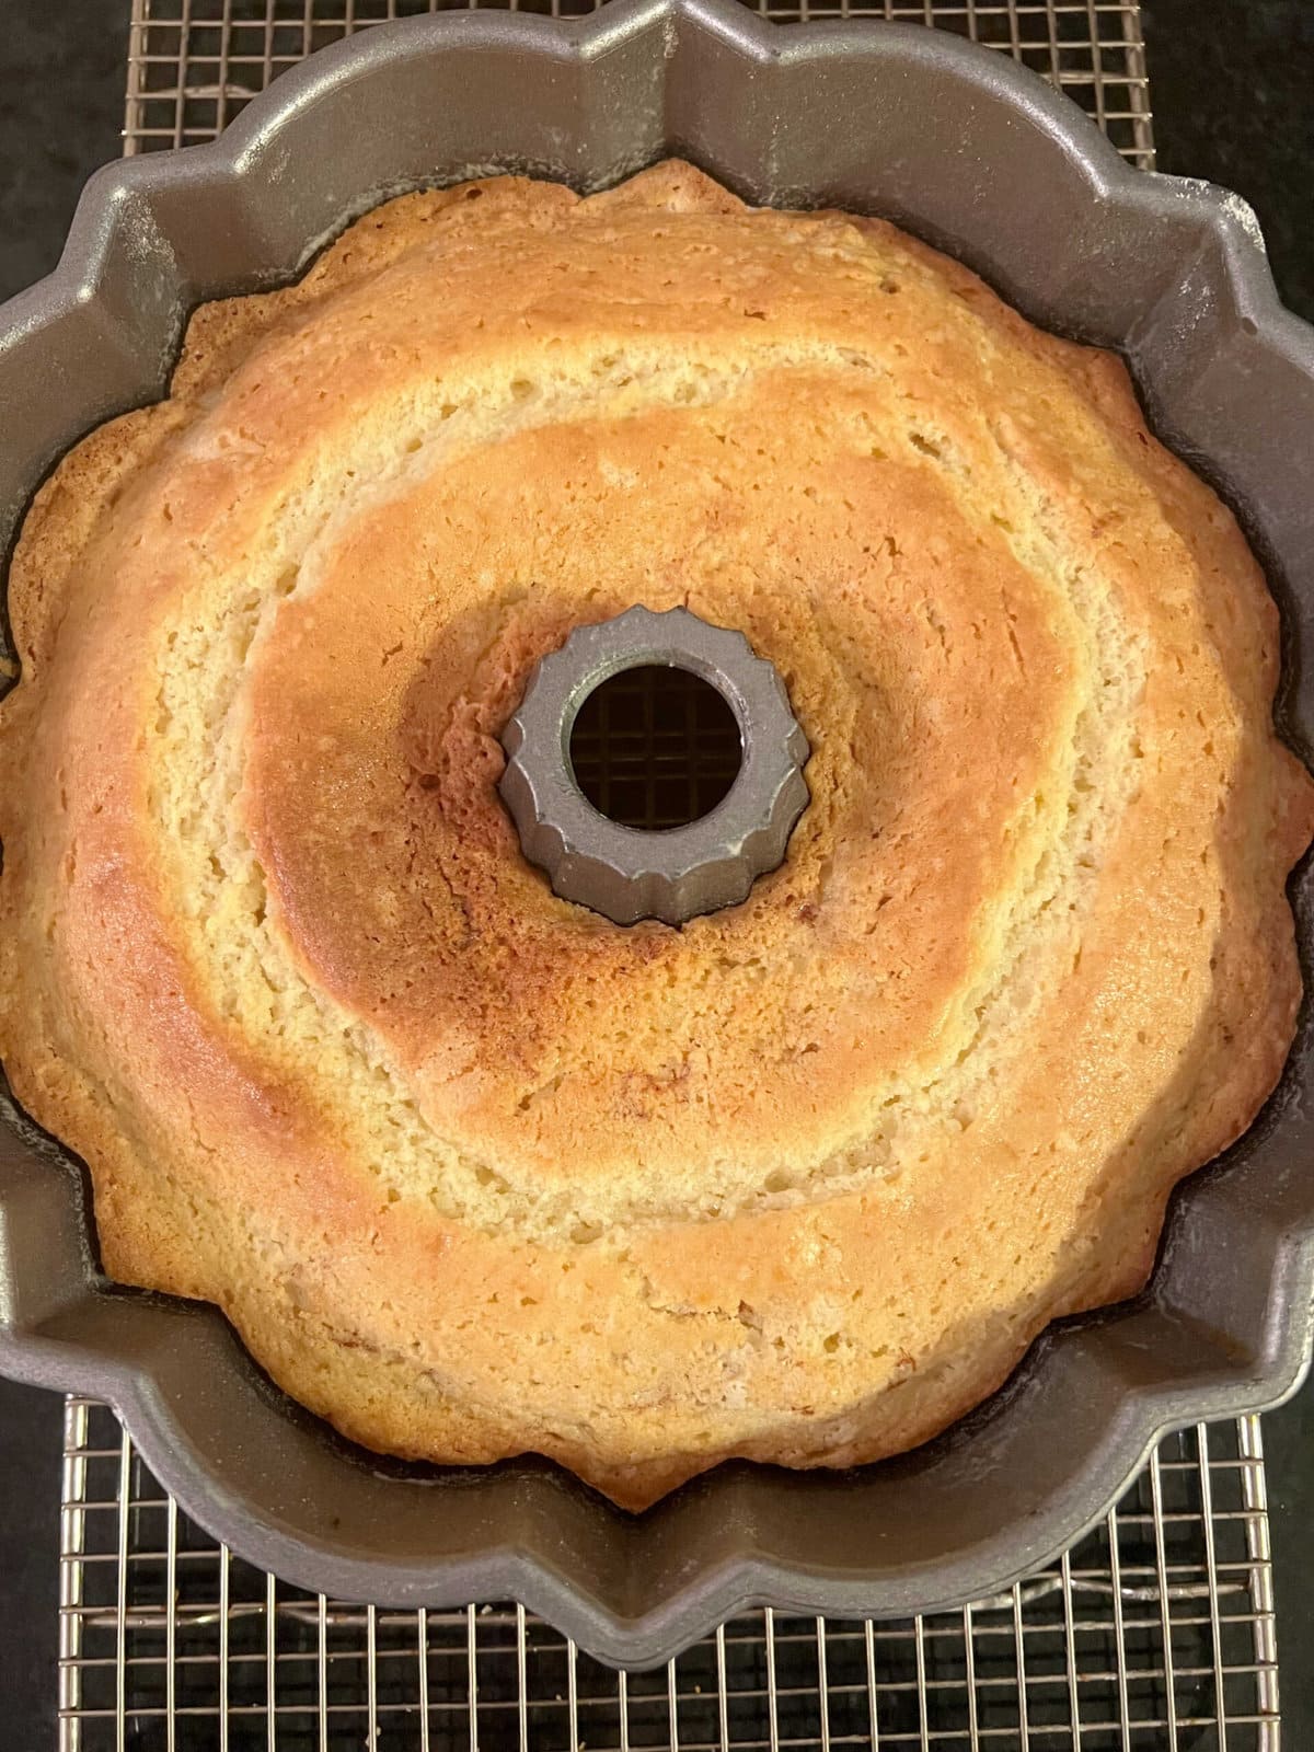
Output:
[[[1151,417],[1232,501],[1286,624],[1281,724],[1314,746],[1314,331],[1247,208],[1130,170],[1004,56],[920,26],[780,30],[734,0],[617,0],[585,23],[452,12],[314,56],[215,145],[114,165],[60,268],[0,315],[9,541],[35,485],[165,392],[184,314],[296,275],[380,196],[471,172],[599,187],[668,152],[753,201],[883,214],[1041,324],[1116,347]],[[1309,867],[1293,883],[1309,967]],[[848,1473],[727,1465],[639,1517],[547,1461],[391,1465],[286,1400],[208,1307],[100,1274],[86,1177],[9,1111],[0,1367],[114,1402],[165,1486],[279,1575],[401,1605],[517,1598],[624,1666],[753,1601],[958,1605],[1090,1526],[1169,1428],[1288,1395],[1314,1288],[1309,1006],[1279,1091],[1177,1193],[1149,1289],[1049,1330],[939,1440]]]

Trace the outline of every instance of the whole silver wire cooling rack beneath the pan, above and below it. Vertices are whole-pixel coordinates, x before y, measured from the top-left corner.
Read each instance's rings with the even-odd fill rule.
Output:
[[[314,49],[438,9],[133,0],[124,152],[214,138]],[[992,44],[1153,168],[1130,0],[760,0],[757,11],[787,23],[911,19]],[[606,745],[590,759],[604,778]],[[254,1570],[187,1521],[93,1400],[65,1412],[60,1544],[61,1752],[1279,1748],[1256,1417],[1170,1437],[1055,1566],[960,1614],[872,1624],[760,1610],[629,1677],[515,1605],[389,1612]]]

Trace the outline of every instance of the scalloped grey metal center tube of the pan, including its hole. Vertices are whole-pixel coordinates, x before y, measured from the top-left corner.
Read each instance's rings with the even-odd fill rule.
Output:
[[[808,738],[774,666],[687,608],[576,627],[501,741],[524,855],[617,925],[739,904],[808,806]]]

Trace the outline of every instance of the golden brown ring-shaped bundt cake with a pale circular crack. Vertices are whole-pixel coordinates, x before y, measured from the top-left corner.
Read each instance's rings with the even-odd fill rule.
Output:
[[[741,908],[552,897],[498,731],[687,603],[808,731]],[[930,1437],[1144,1281],[1300,978],[1277,615],[1121,364],[878,221],[494,179],[205,307],[14,561],[0,1049],[109,1272],[357,1440],[641,1507]]]

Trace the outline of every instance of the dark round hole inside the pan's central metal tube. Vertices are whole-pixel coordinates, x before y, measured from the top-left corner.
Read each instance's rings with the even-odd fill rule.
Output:
[[[641,664],[589,694],[571,731],[583,795],[622,827],[687,827],[739,776],[739,724],[722,694],[690,669]]]

